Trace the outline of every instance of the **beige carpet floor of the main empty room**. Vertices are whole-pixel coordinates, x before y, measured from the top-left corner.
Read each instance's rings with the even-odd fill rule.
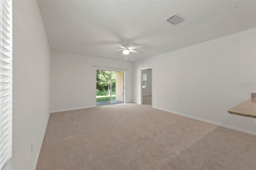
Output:
[[[130,103],[52,113],[36,169],[255,168],[256,136]]]

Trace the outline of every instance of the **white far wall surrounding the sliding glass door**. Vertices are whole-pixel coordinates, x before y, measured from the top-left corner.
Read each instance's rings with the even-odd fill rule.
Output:
[[[133,102],[131,62],[52,51],[51,112],[96,106],[96,69],[109,70],[109,68],[96,68],[93,67],[94,65],[127,68],[125,102]]]

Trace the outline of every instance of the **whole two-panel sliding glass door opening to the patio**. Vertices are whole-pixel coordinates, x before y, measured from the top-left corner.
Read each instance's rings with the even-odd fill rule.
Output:
[[[96,105],[124,103],[124,72],[97,70]]]

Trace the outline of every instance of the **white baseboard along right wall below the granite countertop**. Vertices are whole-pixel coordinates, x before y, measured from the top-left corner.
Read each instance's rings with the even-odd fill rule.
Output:
[[[195,116],[191,116],[191,115],[186,115],[186,114],[179,113],[179,112],[172,111],[172,110],[168,110],[168,109],[162,109],[162,108],[156,107],[156,106],[153,106],[153,108],[158,109],[158,110],[162,110],[162,111],[167,111],[167,112],[169,112],[169,113],[174,113],[174,114],[176,114],[176,115],[182,115],[182,116],[185,116],[185,117],[190,117],[190,118],[192,118],[192,119],[204,121],[204,122],[207,122],[207,123],[212,123],[212,124],[214,124],[214,125],[226,127],[226,128],[229,128],[229,129],[233,129],[233,130],[236,130],[236,131],[240,131],[240,132],[244,132],[244,133],[248,133],[248,134],[250,134],[250,135],[255,135],[255,136],[256,136],[256,132],[254,132],[254,131],[248,131],[248,130],[246,130],[246,129],[241,129],[241,128],[234,127],[234,126],[230,126],[230,125],[225,125],[225,124],[218,123],[218,122],[215,122],[215,121],[210,121],[210,120],[207,120],[207,119],[202,119],[202,118],[195,117]]]

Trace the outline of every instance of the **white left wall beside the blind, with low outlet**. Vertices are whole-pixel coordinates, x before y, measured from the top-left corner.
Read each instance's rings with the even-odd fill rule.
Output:
[[[37,2],[12,3],[12,169],[31,170],[36,166],[50,115],[50,48]]]

